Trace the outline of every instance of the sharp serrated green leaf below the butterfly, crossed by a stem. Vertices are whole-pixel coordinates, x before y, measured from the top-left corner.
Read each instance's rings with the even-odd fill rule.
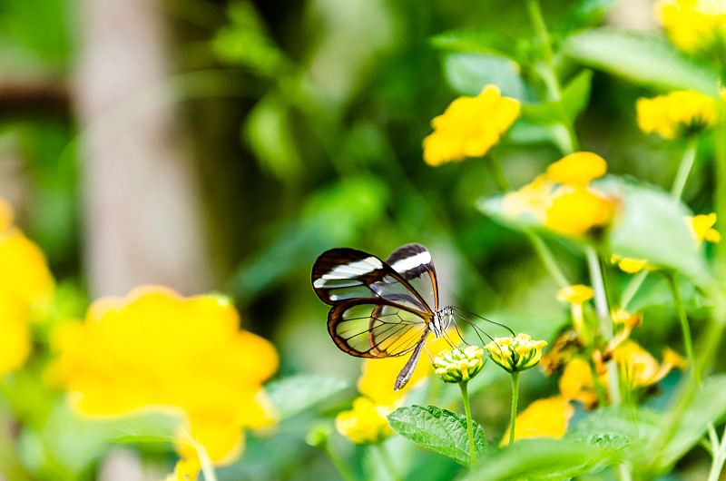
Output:
[[[463,466],[471,465],[466,416],[436,406],[399,407],[388,415],[393,429],[420,447],[426,447],[454,459]],[[474,423],[476,459],[485,454],[484,429]]]

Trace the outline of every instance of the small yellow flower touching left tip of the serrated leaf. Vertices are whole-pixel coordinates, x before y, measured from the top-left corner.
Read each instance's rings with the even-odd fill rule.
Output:
[[[335,427],[338,433],[358,445],[376,444],[393,434],[386,418],[391,411],[390,407],[377,406],[368,398],[357,398],[352,410],[338,414]]]

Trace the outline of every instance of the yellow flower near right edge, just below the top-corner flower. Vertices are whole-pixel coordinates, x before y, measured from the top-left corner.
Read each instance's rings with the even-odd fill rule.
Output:
[[[658,133],[665,139],[701,133],[719,117],[716,100],[695,92],[679,91],[652,99],[641,98],[635,107],[641,130]]]

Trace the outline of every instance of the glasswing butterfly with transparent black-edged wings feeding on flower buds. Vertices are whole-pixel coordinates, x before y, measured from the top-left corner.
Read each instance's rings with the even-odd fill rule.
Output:
[[[323,252],[312,268],[312,287],[332,306],[328,332],[336,346],[358,358],[411,353],[396,378],[406,386],[427,337],[445,335],[453,310],[438,309],[437,272],[420,244],[399,247],[386,261],[362,250]]]

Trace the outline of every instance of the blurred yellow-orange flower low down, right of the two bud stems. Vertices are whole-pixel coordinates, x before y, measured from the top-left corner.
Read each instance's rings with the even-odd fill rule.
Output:
[[[519,413],[515,420],[515,439],[526,437],[563,437],[574,416],[574,407],[562,396],[538,399]],[[501,446],[509,444],[509,429]]]

